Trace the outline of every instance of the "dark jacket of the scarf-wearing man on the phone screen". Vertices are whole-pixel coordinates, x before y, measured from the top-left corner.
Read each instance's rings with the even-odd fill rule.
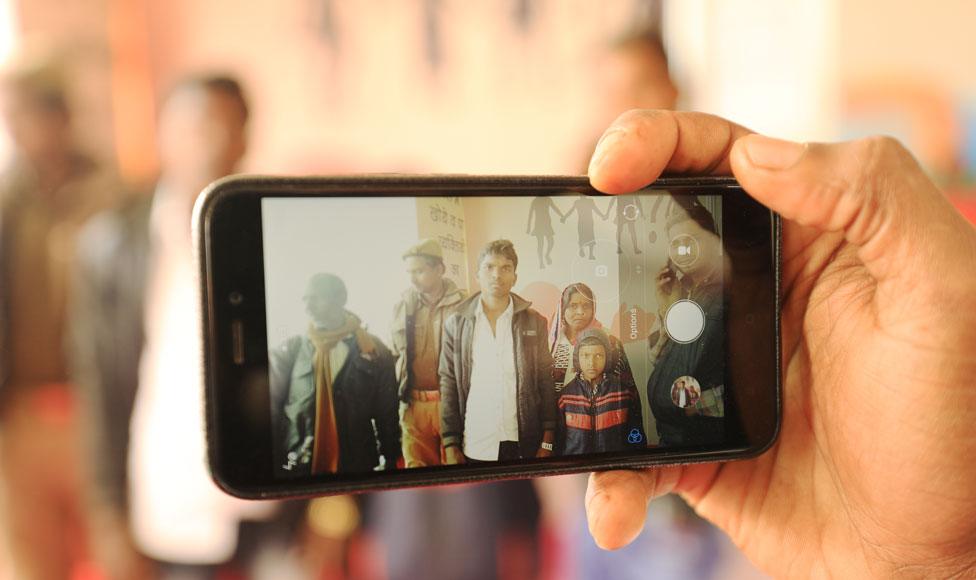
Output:
[[[380,454],[386,469],[394,469],[401,455],[393,355],[378,338],[370,338],[376,346],[368,356],[355,336],[343,340],[349,354],[332,385],[340,472],[371,471],[379,465]],[[314,439],[314,347],[307,337],[293,336],[269,355],[276,470],[279,475],[308,475],[309,462],[285,466],[289,453],[301,456],[306,441]]]

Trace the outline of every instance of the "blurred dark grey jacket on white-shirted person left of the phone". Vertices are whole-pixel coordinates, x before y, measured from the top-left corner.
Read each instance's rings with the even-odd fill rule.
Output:
[[[151,199],[99,214],[78,239],[69,309],[70,369],[99,507],[126,513],[129,419],[145,343]]]

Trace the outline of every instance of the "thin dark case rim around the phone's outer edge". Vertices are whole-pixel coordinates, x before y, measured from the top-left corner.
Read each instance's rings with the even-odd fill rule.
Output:
[[[675,188],[675,187],[740,187],[731,177],[663,177],[649,184],[647,188]],[[532,188],[558,188],[564,191],[603,195],[590,186],[589,179],[584,176],[483,176],[483,175],[409,175],[409,174],[362,174],[321,177],[276,177],[259,175],[231,176],[220,179],[204,189],[197,199],[193,213],[193,237],[196,243],[197,271],[200,276],[201,312],[203,313],[203,361],[205,381],[205,411],[207,455],[214,482],[230,495],[244,499],[284,499],[318,497],[345,493],[361,493],[368,491],[383,491],[408,487],[450,485],[474,483],[483,481],[498,481],[506,479],[522,479],[527,477],[565,475],[570,473],[585,473],[591,471],[606,471],[613,469],[636,469],[645,467],[665,467],[673,465],[687,465],[695,463],[709,463],[749,459],[767,451],[779,437],[782,422],[782,361],[780,317],[781,308],[779,288],[781,277],[781,245],[782,234],[779,215],[772,214],[773,229],[773,281],[776,286],[774,295],[775,308],[775,406],[776,418],[772,437],[764,445],[745,451],[680,451],[670,455],[648,455],[641,457],[608,458],[606,460],[568,459],[552,464],[531,465],[492,465],[488,471],[478,473],[461,472],[459,470],[436,470],[413,472],[410,469],[395,470],[402,478],[375,479],[361,482],[330,482],[283,480],[277,489],[241,489],[225,480],[219,470],[217,457],[220,455],[220,442],[216,431],[217,385],[215,383],[214,365],[217,364],[209,324],[213,319],[214,310],[211,302],[211,289],[206,282],[209,280],[209,240],[207,239],[207,223],[217,204],[226,196],[242,193],[276,194],[296,197],[329,197],[349,196],[357,193],[374,195],[484,195],[493,192],[498,195],[513,195]],[[413,472],[413,473],[412,473]],[[404,475],[406,474],[406,475]],[[277,484],[275,484],[277,485]]]

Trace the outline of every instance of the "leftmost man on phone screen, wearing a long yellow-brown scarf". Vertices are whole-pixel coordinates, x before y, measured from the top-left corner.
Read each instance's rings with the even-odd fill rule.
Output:
[[[392,469],[400,459],[393,356],[345,309],[346,298],[339,277],[312,276],[308,332],[270,352],[275,462],[283,475]]]

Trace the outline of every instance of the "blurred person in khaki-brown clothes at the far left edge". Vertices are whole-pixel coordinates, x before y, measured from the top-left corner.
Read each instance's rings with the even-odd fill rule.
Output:
[[[0,481],[14,574],[84,557],[74,392],[63,348],[78,231],[120,189],[72,134],[65,71],[25,54],[0,74],[13,145],[0,175]]]

